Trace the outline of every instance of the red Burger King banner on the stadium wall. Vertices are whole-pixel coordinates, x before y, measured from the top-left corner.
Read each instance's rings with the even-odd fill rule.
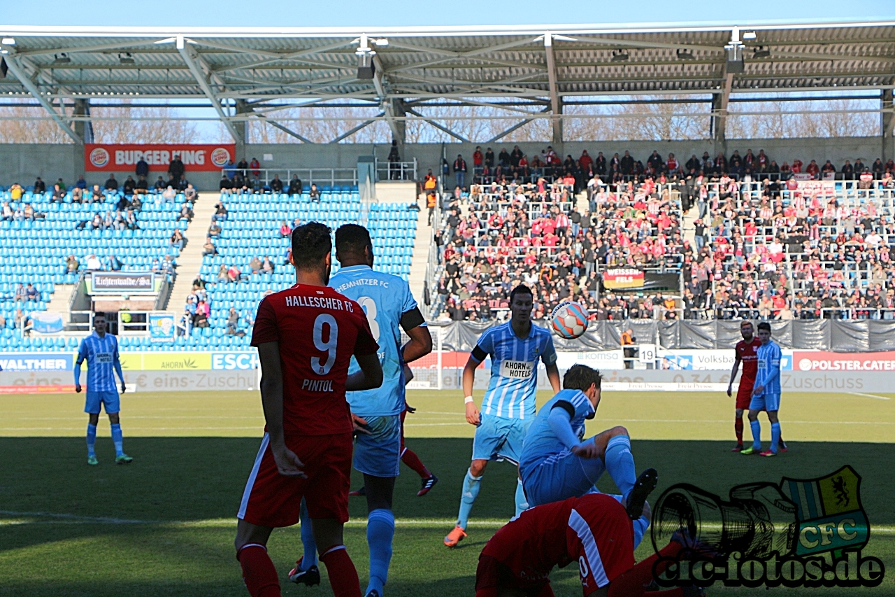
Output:
[[[133,172],[142,159],[149,164],[149,171],[166,172],[175,155],[180,156],[187,172],[214,172],[224,168],[227,160],[236,161],[236,146],[87,143],[84,145],[84,168],[90,172]]]

